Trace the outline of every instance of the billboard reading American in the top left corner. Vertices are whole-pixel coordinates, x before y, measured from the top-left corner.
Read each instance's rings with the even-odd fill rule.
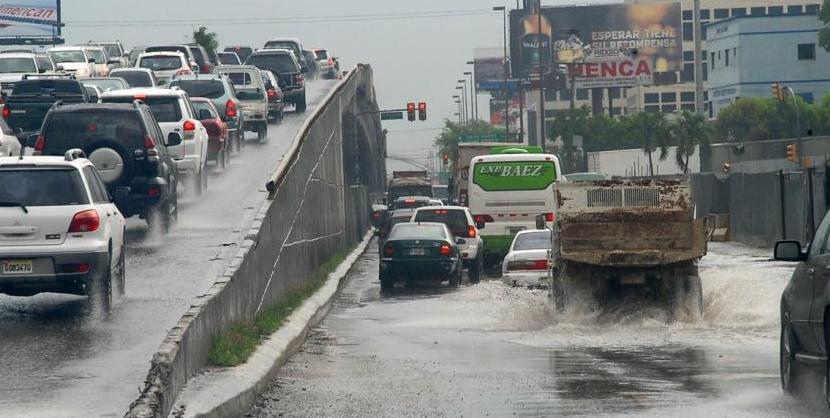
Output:
[[[60,13],[60,0],[0,0],[0,44],[58,43]]]

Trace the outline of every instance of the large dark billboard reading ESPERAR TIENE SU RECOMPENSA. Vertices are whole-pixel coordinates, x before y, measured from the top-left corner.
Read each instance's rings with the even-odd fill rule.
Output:
[[[511,71],[567,72],[577,87],[648,85],[681,71],[680,3],[543,7],[510,13]]]

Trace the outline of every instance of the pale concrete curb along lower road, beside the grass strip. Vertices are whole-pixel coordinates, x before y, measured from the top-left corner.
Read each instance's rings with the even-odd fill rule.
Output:
[[[308,334],[328,314],[343,279],[366,251],[374,237],[370,230],[323,287],[306,300],[285,324],[271,335],[244,364],[198,374],[187,382],[176,399],[171,417],[243,416],[265,391],[268,383],[293,355]]]

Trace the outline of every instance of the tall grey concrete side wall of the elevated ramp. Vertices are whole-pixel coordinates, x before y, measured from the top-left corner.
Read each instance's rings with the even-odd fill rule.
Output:
[[[170,331],[127,417],[166,417],[187,380],[204,367],[217,335],[277,303],[326,260],[361,240],[369,228],[369,190],[344,181],[342,121],[344,115],[361,121],[359,130],[349,132],[363,136],[361,150],[370,154],[366,161],[383,164],[383,148],[374,143],[382,141],[371,112],[377,110],[375,103],[371,68],[359,65],[307,119],[268,180],[269,199],[239,252]],[[371,165],[363,169],[381,172]]]

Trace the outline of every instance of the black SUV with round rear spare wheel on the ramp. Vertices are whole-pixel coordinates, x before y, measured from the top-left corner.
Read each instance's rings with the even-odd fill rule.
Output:
[[[179,183],[167,147],[181,142],[175,132],[165,138],[150,108],[136,101],[55,106],[33,147],[35,155],[52,156],[82,149],[124,217],[167,231],[178,218]]]

